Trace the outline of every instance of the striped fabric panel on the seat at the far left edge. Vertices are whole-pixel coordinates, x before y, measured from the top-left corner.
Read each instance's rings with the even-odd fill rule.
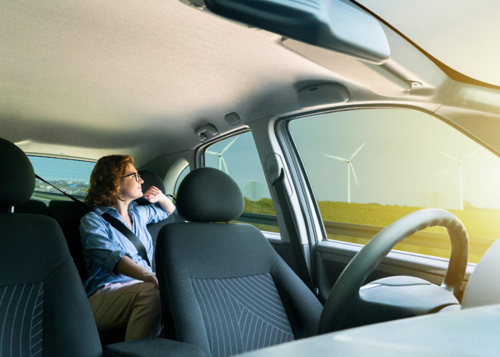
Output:
[[[42,282],[0,287],[0,326],[0,356],[42,356]]]

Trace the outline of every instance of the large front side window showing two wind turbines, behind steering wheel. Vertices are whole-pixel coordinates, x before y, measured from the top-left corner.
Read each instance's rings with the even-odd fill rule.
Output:
[[[290,130],[328,239],[366,244],[422,208],[464,223],[471,263],[500,236],[500,158],[437,118],[353,110],[295,120]],[[449,258],[451,248],[444,228],[431,227],[395,249]]]

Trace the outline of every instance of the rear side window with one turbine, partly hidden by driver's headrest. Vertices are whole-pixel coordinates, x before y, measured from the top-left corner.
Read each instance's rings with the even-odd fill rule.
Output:
[[[267,187],[252,133],[217,142],[205,151],[205,165],[230,175],[241,188],[245,200],[238,221],[263,231],[279,232],[276,212]]]

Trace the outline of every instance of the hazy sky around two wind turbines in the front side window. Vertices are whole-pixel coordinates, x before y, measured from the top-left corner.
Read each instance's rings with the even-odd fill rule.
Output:
[[[351,174],[351,201],[426,206],[437,191],[440,207],[459,208],[457,159],[481,148],[437,118],[405,109],[366,109],[322,114],[290,123],[290,129],[316,199],[347,201],[347,163],[324,154],[353,158],[359,186]],[[482,148],[463,164],[464,200],[500,208],[500,158]]]

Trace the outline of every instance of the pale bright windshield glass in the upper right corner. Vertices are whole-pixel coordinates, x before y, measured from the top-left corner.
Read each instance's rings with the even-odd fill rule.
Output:
[[[500,85],[500,2],[358,0],[422,50],[465,76]]]

